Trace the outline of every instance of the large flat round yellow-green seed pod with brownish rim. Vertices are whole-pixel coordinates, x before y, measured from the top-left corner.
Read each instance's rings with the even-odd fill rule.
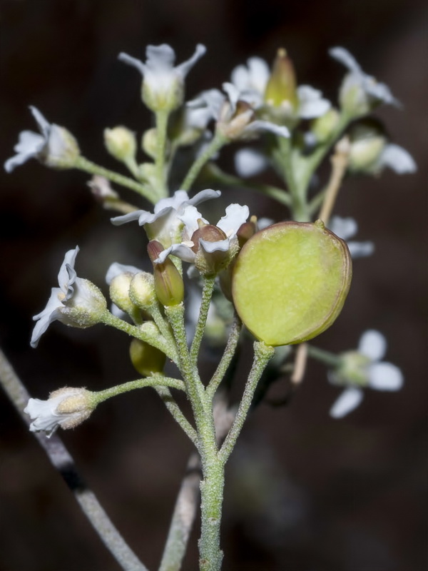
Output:
[[[243,246],[233,269],[233,302],[267,345],[302,343],[332,325],[351,278],[347,244],[322,221],[282,222]]]

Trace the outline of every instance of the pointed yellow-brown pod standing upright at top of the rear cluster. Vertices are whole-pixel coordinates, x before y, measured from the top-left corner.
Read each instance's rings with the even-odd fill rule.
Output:
[[[265,89],[265,101],[272,107],[290,106],[292,111],[297,111],[299,106],[295,70],[285,49],[277,51]]]

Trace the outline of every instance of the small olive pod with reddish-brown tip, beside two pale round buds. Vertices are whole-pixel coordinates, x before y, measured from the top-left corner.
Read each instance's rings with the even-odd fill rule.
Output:
[[[166,258],[163,263],[155,263],[159,254],[164,250],[162,244],[156,240],[148,243],[148,256],[153,262],[153,278],[158,300],[162,305],[179,305],[184,299],[184,283],[180,272],[172,261]]]

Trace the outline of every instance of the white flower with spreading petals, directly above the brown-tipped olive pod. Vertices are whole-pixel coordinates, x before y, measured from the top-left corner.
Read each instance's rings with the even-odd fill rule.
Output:
[[[198,192],[193,198],[189,198],[185,191],[175,191],[174,196],[162,198],[156,203],[153,214],[138,210],[124,216],[111,218],[111,222],[115,226],[119,226],[126,222],[138,220],[138,224],[144,226],[149,240],[157,240],[161,242],[164,248],[168,248],[178,240],[178,233],[183,225],[180,215],[183,214],[186,206],[195,206],[195,204],[200,204],[211,198],[218,198],[220,195],[220,191],[213,191],[210,188]]]

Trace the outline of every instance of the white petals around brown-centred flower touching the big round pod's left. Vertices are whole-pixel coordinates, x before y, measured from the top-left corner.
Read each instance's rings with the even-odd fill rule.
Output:
[[[226,208],[226,215],[220,218],[217,223],[217,228],[220,228],[224,239],[216,241],[208,241],[203,238],[199,238],[198,244],[205,253],[213,252],[228,252],[233,250],[238,246],[238,238],[236,236],[240,226],[247,221],[250,211],[248,206],[240,206],[240,204],[230,204]],[[155,263],[163,263],[165,258],[172,254],[177,256],[185,262],[193,263],[195,261],[195,251],[194,247],[197,246],[193,241],[193,234],[200,228],[198,221],[202,221],[204,224],[208,224],[205,218],[202,218],[200,213],[196,210],[194,206],[186,206],[183,215],[179,217],[184,223],[183,227],[183,239],[181,243],[173,244],[163,252],[161,252],[159,258],[155,260]]]

